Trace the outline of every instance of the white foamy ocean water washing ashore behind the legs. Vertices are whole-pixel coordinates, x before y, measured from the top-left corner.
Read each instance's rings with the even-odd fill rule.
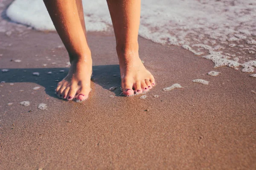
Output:
[[[83,0],[88,31],[108,31],[105,0]],[[55,30],[42,0],[15,0],[12,20],[38,30]],[[243,72],[256,67],[256,0],[142,0],[139,35],[163,45],[178,45],[215,67]]]

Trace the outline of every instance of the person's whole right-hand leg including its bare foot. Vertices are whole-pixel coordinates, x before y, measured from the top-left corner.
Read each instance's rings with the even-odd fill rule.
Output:
[[[148,91],[155,81],[139,57],[140,0],[107,2],[116,36],[123,94],[129,96]]]

